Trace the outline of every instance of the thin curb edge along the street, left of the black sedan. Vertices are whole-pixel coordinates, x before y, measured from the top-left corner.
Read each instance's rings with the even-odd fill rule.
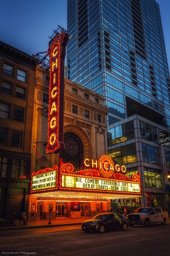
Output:
[[[81,223],[63,223],[63,224],[48,224],[48,225],[41,225],[41,226],[13,226],[13,227],[0,227],[0,232],[5,230],[19,230],[19,229],[34,229],[34,228],[53,228],[53,227],[60,227],[60,226],[75,226],[81,225]]]

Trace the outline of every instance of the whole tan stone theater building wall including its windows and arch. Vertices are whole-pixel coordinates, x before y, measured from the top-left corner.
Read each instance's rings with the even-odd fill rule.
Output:
[[[32,123],[31,172],[59,165],[60,158],[63,162],[74,164],[75,169],[79,170],[83,159],[97,159],[100,155],[107,154],[106,115],[108,108],[104,105],[103,96],[66,78],[63,117],[65,150],[60,154],[46,154],[48,89],[49,74],[44,68],[37,66]],[[48,217],[48,205],[50,203],[54,204],[53,207],[56,209],[60,207],[60,205],[55,205],[56,202],[49,200],[47,203],[45,201],[38,201],[37,198],[30,195],[28,217],[31,219]],[[84,208],[85,206],[83,206]]]

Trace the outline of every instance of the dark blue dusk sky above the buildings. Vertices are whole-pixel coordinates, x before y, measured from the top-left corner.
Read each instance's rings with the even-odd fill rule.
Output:
[[[170,67],[170,0],[157,3]],[[57,25],[67,28],[67,0],[0,0],[0,6],[0,40],[30,55],[47,50]]]

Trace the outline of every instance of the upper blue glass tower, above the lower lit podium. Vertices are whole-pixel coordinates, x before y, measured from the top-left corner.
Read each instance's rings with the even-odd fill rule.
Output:
[[[67,78],[103,94],[111,125],[133,113],[170,125],[169,70],[154,0],[68,0]]]

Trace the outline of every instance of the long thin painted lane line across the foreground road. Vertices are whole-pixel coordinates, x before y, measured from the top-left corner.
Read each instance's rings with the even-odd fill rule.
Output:
[[[141,242],[141,241],[143,242],[145,240],[151,240],[151,239],[154,239],[154,238],[161,238],[161,237],[167,237],[167,236],[170,236],[170,234],[160,235],[159,237],[142,238],[140,240],[134,240],[134,241],[123,242],[123,243],[108,244],[108,245],[105,245],[105,246],[88,248],[88,249],[84,249],[84,250],[74,251],[71,254],[77,253],[77,252],[85,252],[85,251],[90,251],[90,250],[96,250],[96,249],[111,247],[111,246],[116,246],[116,245],[122,245],[122,244],[127,244],[127,243],[134,243],[134,242]],[[69,250],[69,251],[72,251],[72,250]],[[49,255],[49,256],[64,255],[64,254],[68,254],[68,253],[57,253],[57,254],[52,254],[52,255]]]

